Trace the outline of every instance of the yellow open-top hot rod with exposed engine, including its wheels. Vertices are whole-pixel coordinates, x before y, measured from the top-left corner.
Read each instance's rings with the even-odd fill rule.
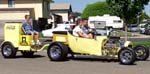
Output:
[[[146,60],[149,49],[145,46],[133,47],[130,41],[121,41],[120,37],[95,36],[94,39],[76,37],[72,32],[53,32],[52,44],[47,54],[52,61],[65,60],[67,54],[92,55],[106,59],[118,59],[121,64],[133,64],[136,59]]]

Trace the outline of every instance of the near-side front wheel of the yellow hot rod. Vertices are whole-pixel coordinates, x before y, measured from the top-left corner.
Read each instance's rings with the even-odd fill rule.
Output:
[[[136,54],[132,49],[124,48],[119,51],[118,59],[121,64],[131,65],[136,60]]]

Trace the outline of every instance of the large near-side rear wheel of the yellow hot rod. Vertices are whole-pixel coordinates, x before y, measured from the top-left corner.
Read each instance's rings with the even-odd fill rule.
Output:
[[[56,42],[49,46],[47,55],[51,61],[64,61],[68,54],[68,48],[65,44]]]

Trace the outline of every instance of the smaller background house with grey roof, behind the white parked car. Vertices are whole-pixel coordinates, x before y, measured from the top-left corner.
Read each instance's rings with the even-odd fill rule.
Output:
[[[72,14],[71,4],[50,4],[51,14],[62,16],[62,21],[70,21],[70,15]]]

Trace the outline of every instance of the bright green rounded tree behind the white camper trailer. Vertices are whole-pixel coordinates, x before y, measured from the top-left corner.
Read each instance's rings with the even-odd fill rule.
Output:
[[[89,4],[84,9],[81,17],[88,18],[89,16],[102,16],[104,14],[110,14],[110,8],[106,2],[96,2],[93,4]]]

